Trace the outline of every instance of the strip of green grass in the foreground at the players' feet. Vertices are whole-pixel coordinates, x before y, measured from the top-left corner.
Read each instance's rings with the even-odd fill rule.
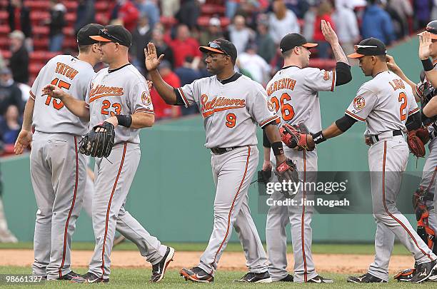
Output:
[[[24,267],[0,267],[0,274],[29,274],[30,268]],[[84,273],[84,269],[78,270],[78,273]],[[111,273],[110,282],[108,284],[96,284],[93,286],[103,286],[101,288],[210,288],[210,289],[227,289],[227,288],[387,288],[387,289],[403,289],[403,288],[436,288],[436,283],[422,283],[409,284],[409,283],[398,283],[391,280],[389,283],[385,284],[351,284],[346,283],[347,275],[325,273],[322,274],[328,278],[333,278],[335,283],[333,284],[297,284],[293,283],[270,283],[270,284],[242,284],[233,283],[234,279],[241,278],[245,272],[236,271],[218,271],[216,273],[216,280],[211,284],[199,284],[191,283],[184,280],[179,276],[177,270],[169,270],[166,273],[166,278],[161,281],[161,283],[150,284],[147,282],[149,280],[150,270],[146,269],[121,269],[114,268]],[[0,287],[9,288],[9,286]],[[88,285],[88,284],[87,284]],[[83,284],[75,284],[69,281],[50,281],[38,285],[14,285],[10,288],[84,288],[87,286]]]

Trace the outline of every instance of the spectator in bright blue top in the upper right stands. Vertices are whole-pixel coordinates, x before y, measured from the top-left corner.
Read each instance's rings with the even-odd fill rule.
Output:
[[[374,37],[389,45],[395,39],[393,24],[381,6],[381,0],[368,0],[361,22],[361,36],[363,39]]]

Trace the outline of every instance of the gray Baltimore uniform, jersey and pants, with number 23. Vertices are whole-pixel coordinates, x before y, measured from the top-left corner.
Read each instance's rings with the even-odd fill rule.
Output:
[[[146,79],[131,64],[114,71],[99,71],[89,86],[86,105],[91,127],[110,116],[154,113]],[[153,265],[161,261],[167,249],[124,209],[141,156],[139,129],[117,126],[115,136],[111,155],[108,159],[96,158],[94,166],[92,220],[96,248],[89,272],[104,279],[109,278],[109,256],[116,228],[134,242],[141,255]]]

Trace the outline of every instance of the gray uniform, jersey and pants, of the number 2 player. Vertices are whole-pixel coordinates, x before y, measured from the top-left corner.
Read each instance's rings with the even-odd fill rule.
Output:
[[[388,280],[395,235],[418,264],[437,258],[396,208],[409,149],[403,136],[393,132],[405,133],[408,116],[418,111],[411,87],[391,71],[378,73],[364,83],[346,110],[348,116],[366,122],[365,136],[373,139],[368,150],[368,166],[376,220],[376,255],[368,273],[383,280]]]

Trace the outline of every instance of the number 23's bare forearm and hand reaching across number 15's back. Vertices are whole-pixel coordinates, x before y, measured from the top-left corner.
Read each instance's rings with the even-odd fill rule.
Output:
[[[47,84],[44,86],[43,93],[44,95],[59,98],[71,113],[75,116],[79,116],[79,118],[84,118],[86,121],[89,121],[89,108],[86,106],[85,101],[80,101],[79,99],[74,98],[69,93],[62,90],[62,88],[54,86],[53,84]]]

